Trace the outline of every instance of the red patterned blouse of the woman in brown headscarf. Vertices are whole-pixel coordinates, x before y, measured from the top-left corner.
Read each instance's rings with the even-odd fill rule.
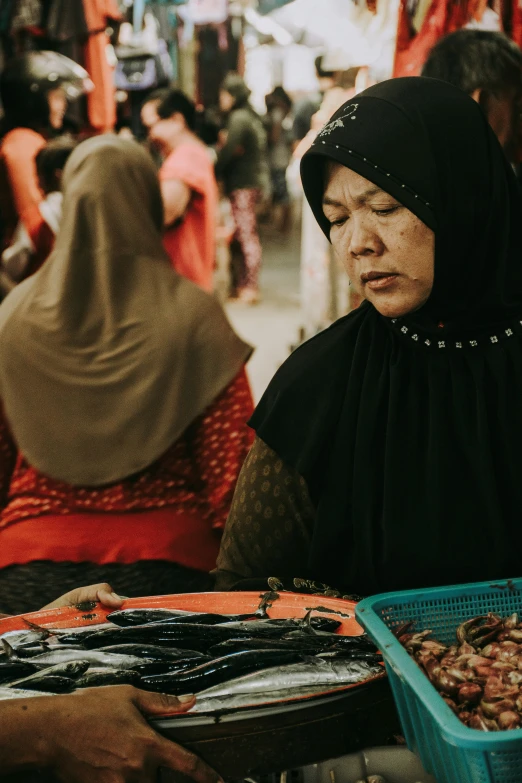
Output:
[[[172,560],[211,570],[252,444],[245,370],[153,465],[116,484],[74,487],[19,454],[0,418],[0,567],[34,560]]]

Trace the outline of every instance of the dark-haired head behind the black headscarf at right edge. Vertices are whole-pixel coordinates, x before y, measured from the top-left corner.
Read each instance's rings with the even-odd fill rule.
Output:
[[[431,50],[423,76],[450,82],[477,101],[509,160],[522,151],[522,52],[503,33],[458,30]]]

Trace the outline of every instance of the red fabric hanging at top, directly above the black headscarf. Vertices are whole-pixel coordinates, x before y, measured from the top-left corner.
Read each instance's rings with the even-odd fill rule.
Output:
[[[468,18],[469,0],[432,0],[423,25],[415,34],[407,0],[401,0],[393,75],[418,76],[439,38],[463,27]]]

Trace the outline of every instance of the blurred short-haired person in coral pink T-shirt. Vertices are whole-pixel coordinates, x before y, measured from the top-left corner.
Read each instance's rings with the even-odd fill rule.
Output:
[[[195,132],[196,116],[180,90],[152,93],[141,110],[149,140],[163,156],[165,249],[176,272],[212,291],[218,189],[209,151]]]

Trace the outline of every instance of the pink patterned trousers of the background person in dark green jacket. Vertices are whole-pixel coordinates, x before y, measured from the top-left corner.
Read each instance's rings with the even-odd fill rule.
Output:
[[[260,192],[257,188],[240,188],[230,194],[232,216],[236,224],[236,239],[241,248],[238,270],[238,289],[255,288],[259,285],[262,248],[257,233],[256,205]]]

